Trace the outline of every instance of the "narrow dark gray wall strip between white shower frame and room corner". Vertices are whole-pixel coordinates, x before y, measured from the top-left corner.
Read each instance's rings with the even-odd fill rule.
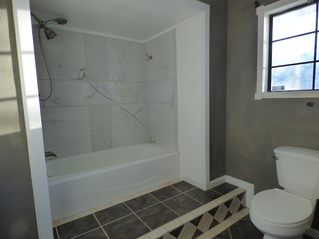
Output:
[[[210,180],[225,175],[226,0],[210,5]]]

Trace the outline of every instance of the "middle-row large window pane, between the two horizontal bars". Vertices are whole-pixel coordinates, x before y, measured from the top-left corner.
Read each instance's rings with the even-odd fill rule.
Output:
[[[272,49],[272,66],[314,60],[315,33],[276,41]]]

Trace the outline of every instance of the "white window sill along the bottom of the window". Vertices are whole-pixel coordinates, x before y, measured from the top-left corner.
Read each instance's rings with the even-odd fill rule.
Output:
[[[319,98],[319,91],[256,92],[255,100],[281,98]]]

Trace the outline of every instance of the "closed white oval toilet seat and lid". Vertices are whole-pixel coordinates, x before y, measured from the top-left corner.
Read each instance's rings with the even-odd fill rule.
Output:
[[[290,228],[307,223],[313,214],[310,200],[280,189],[256,194],[251,201],[252,213],[275,227]]]

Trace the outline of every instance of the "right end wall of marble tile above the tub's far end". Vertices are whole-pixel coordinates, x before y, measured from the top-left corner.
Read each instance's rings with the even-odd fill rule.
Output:
[[[150,141],[178,149],[175,30],[146,43]]]

